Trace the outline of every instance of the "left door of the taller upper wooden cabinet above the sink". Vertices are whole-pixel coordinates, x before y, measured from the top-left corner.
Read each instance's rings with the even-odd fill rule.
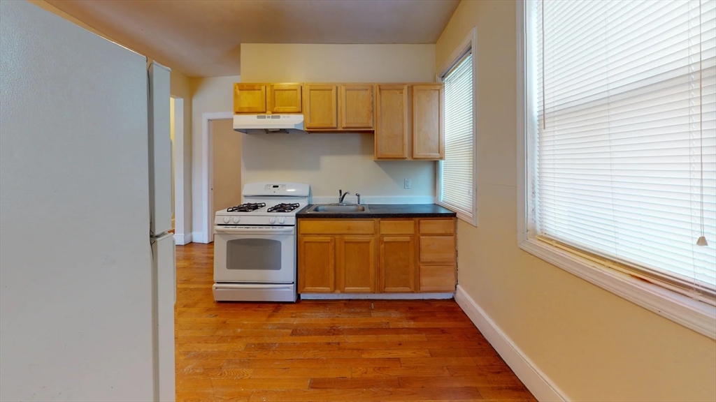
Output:
[[[374,158],[407,159],[410,135],[407,85],[377,85],[375,104]]]

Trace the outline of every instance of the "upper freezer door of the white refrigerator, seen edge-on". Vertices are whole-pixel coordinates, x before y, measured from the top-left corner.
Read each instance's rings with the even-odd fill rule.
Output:
[[[149,202],[150,232],[172,228],[172,141],[170,137],[169,69],[149,65]]]

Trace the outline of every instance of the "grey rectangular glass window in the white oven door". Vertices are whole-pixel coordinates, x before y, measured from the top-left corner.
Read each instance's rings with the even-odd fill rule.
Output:
[[[226,242],[226,269],[281,270],[281,242],[238,239]]]

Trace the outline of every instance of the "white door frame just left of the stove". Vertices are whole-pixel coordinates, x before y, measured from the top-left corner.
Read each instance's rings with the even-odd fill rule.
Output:
[[[212,229],[214,222],[214,213],[211,208],[214,197],[211,187],[213,185],[213,133],[211,132],[211,122],[213,120],[233,120],[233,112],[211,112],[201,114],[201,216],[203,217],[203,225],[201,225],[200,238],[193,239],[195,242],[211,243],[214,241],[214,232]]]

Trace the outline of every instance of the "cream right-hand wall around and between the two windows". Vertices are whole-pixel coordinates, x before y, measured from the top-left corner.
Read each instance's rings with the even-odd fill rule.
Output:
[[[714,401],[716,343],[517,247],[516,2],[463,0],[440,66],[478,27],[478,220],[458,224],[458,281],[576,401]]]

